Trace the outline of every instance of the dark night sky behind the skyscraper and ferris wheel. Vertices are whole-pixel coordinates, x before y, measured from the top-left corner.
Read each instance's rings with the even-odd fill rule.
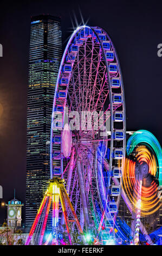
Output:
[[[0,7],[0,185],[3,201],[25,202],[27,84],[30,17],[61,16],[63,48],[80,10],[89,26],[111,36],[124,79],[127,131],[151,131],[162,145],[162,2],[160,1],[8,1]],[[23,211],[24,212],[24,211]],[[24,214],[24,213],[23,213]],[[0,208],[0,223],[4,209]],[[24,219],[23,219],[24,222]]]

